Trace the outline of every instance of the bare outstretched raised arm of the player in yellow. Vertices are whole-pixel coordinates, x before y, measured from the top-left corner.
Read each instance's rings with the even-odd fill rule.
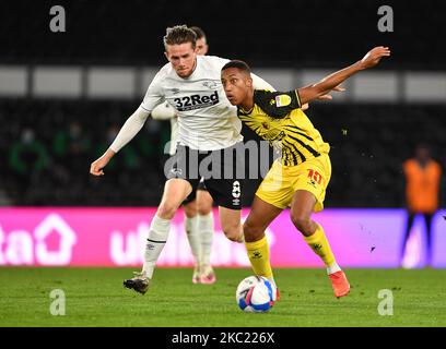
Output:
[[[383,57],[389,57],[390,50],[388,47],[378,46],[369,50],[364,58],[356,63],[344,68],[336,73],[332,73],[316,84],[301,87],[297,89],[301,105],[320,98],[327,95],[330,91],[340,91],[339,85],[348,80],[353,74],[373,68],[379,63]]]

